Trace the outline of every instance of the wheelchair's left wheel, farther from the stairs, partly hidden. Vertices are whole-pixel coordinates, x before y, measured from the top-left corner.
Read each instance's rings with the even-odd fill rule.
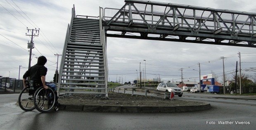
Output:
[[[29,94],[29,87],[26,87],[21,90],[21,93],[19,94],[19,107],[23,109],[24,111],[32,111],[35,109],[34,103],[33,103],[33,94]]]

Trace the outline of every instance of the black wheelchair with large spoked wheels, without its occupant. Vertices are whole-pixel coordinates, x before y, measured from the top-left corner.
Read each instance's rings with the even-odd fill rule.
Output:
[[[52,88],[44,89],[33,81],[26,81],[26,86],[19,94],[19,107],[24,111],[37,109],[39,112],[51,112],[59,110],[59,104],[56,103],[56,95]]]

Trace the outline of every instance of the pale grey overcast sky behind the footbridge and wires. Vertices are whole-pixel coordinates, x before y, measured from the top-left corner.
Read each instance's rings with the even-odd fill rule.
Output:
[[[153,1],[256,13],[254,0]],[[34,55],[31,65],[36,64],[36,57],[40,55],[47,57],[46,80],[51,81],[57,66],[57,57],[54,54],[62,54],[73,4],[76,15],[99,16],[99,7],[120,9],[125,3],[124,0],[1,0],[0,4],[0,75],[4,77],[10,75],[11,78],[18,79],[19,65],[21,65],[20,78],[22,78],[28,69],[29,59],[27,43],[30,37],[25,35],[26,27],[29,29],[39,27],[39,36],[34,38],[36,48],[32,50]],[[231,79],[231,72],[235,71],[236,61],[239,61],[238,52],[241,52],[242,69],[256,67],[256,48],[107,38],[111,81],[116,81],[119,77],[123,78],[123,82],[135,80],[140,62],[141,70],[145,68],[143,61],[145,59],[148,79],[156,78],[159,74],[164,81],[181,81],[180,68],[184,68],[184,80],[198,82],[197,64],[201,63],[201,75],[213,72],[218,76],[217,81],[222,82],[223,62],[220,57],[228,57],[224,61],[225,73],[230,73],[227,76]],[[59,63],[60,59],[61,57]],[[255,72],[242,71],[242,73],[253,75]]]

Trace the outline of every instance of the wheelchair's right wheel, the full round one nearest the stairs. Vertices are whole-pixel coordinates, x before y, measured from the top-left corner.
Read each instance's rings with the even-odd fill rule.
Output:
[[[34,105],[39,112],[50,112],[55,107],[55,94],[52,88],[39,87],[34,94]]]

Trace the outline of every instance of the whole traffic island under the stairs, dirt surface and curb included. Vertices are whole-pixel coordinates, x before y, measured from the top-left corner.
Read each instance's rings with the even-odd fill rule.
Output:
[[[211,108],[209,103],[177,99],[131,96],[114,92],[109,92],[108,98],[75,94],[59,98],[59,109],[84,112],[191,112]]]

